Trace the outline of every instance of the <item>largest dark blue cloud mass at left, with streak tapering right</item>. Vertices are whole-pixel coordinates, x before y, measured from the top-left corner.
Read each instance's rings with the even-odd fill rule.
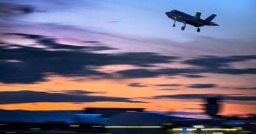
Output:
[[[32,47],[33,45],[20,46],[17,44],[0,46],[0,81],[5,83],[39,82],[45,80],[44,78],[47,74],[112,78],[113,74],[95,71],[94,69],[104,65],[152,67],[155,63],[171,63],[178,59],[174,56],[161,56],[150,52],[99,54],[91,51],[112,48],[108,48],[108,46],[60,44],[56,39],[41,35],[20,33],[12,33],[11,35],[35,39],[38,44],[47,46],[47,48],[35,48]],[[11,49],[10,47],[12,46],[16,48]],[[48,50],[48,48],[53,48],[54,50]],[[10,59],[20,62],[8,62]]]

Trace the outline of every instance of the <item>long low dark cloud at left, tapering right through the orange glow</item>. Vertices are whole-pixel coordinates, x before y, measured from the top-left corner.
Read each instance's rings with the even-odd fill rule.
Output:
[[[0,92],[0,104],[15,103],[41,103],[41,102],[67,102],[67,103],[86,103],[98,101],[114,101],[127,103],[143,103],[133,101],[125,97],[104,97],[92,96],[87,93],[47,93],[33,91]]]

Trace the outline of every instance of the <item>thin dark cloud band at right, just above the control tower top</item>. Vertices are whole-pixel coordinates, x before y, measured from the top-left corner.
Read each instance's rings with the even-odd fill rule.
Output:
[[[254,96],[241,96],[241,95],[223,95],[223,94],[176,94],[176,95],[157,95],[153,99],[204,99],[206,97],[220,97],[223,100],[229,101],[256,101]]]

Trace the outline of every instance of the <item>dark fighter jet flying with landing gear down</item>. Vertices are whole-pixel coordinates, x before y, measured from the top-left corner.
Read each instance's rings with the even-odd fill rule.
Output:
[[[205,20],[202,20],[200,18],[201,12],[196,12],[195,16],[191,16],[179,10],[171,10],[171,12],[165,12],[165,14],[169,18],[174,20],[173,27],[175,27],[176,21],[182,22],[184,24],[184,26],[181,27],[182,30],[185,29],[186,24],[190,24],[190,25],[194,25],[194,27],[198,27],[197,29],[198,32],[200,32],[199,27],[202,27],[204,25],[212,25],[212,26],[218,25],[218,24],[215,24],[215,22],[211,22],[211,20],[215,18],[216,14],[211,14],[211,16],[209,16]]]

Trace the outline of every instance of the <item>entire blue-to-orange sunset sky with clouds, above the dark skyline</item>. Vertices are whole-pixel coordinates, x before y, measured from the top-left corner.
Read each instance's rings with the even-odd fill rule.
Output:
[[[0,0],[0,109],[256,114],[254,0]],[[165,12],[220,26],[173,27]],[[200,115],[198,115],[200,116]]]

